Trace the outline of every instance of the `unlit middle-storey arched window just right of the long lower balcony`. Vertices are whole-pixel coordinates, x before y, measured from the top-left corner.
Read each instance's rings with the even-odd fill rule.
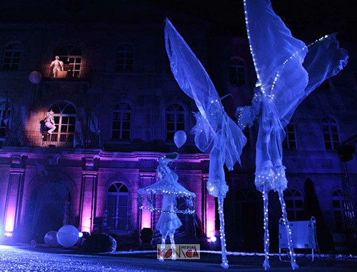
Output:
[[[119,103],[114,106],[111,138],[130,139],[131,106]]]

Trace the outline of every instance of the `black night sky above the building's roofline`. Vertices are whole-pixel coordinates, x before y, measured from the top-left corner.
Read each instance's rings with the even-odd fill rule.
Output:
[[[276,14],[298,39],[316,39],[338,32],[340,40],[357,41],[356,0],[271,2]],[[151,4],[162,11],[151,15],[151,21],[161,21],[172,14],[169,11],[179,11],[178,14],[211,22],[213,34],[246,35],[243,0],[0,0],[0,21],[139,21],[151,14]],[[133,16],[134,10],[140,15]],[[309,32],[311,37],[306,36]]]

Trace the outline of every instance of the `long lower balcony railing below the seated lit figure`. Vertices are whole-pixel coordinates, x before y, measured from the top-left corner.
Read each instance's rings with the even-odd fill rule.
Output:
[[[101,148],[101,136],[98,134],[53,133],[41,134],[40,131],[22,131],[18,135],[9,134],[4,146],[35,146],[44,148]]]

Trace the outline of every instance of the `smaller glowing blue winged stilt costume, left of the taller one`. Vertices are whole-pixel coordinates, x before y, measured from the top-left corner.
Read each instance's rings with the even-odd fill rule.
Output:
[[[166,19],[165,43],[171,71],[178,85],[195,101],[198,108],[196,126],[193,127],[192,132],[195,134],[196,146],[201,151],[210,153],[207,190],[211,196],[218,198],[221,266],[228,268],[223,216],[223,200],[228,186],[223,166],[226,164],[231,171],[236,161],[240,162],[246,137],[224,111],[221,99],[206,70],[169,19]]]

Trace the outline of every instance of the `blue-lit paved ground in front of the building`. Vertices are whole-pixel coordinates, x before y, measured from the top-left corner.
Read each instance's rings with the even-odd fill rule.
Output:
[[[51,271],[263,271],[263,256],[228,256],[228,270],[219,266],[220,255],[201,253],[199,261],[156,260],[156,254],[146,253],[101,253],[84,254],[76,249],[45,248],[34,246],[0,246],[1,272],[51,272]],[[311,262],[303,256],[297,258],[298,271],[357,271],[357,258],[353,256],[316,256]],[[270,271],[291,271],[289,263],[283,263],[277,256],[271,257]]]

